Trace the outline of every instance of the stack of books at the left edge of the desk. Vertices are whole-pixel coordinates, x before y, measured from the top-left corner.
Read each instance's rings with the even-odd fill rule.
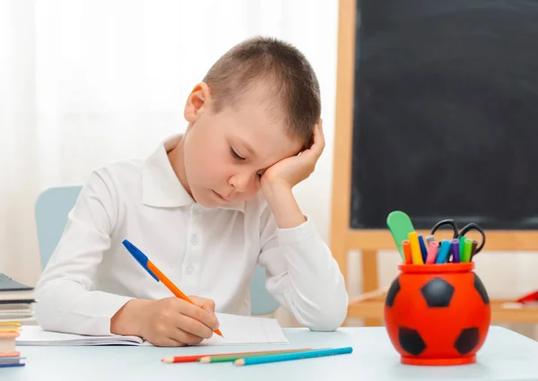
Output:
[[[25,365],[16,340],[23,322],[34,319],[33,288],[0,273],[0,368]]]

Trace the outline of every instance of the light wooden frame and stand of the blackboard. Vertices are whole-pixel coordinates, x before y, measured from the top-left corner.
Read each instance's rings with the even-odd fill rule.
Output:
[[[348,318],[364,318],[365,325],[381,325],[384,290],[378,289],[377,250],[395,249],[395,243],[388,229],[350,228],[356,13],[356,0],[340,0],[330,244],[346,284],[348,251],[361,250],[362,254],[364,294],[350,300]],[[419,234],[429,233],[421,230]],[[488,231],[487,250],[538,251],[538,231]],[[491,300],[492,322],[538,323],[538,308],[515,307],[509,302]]]

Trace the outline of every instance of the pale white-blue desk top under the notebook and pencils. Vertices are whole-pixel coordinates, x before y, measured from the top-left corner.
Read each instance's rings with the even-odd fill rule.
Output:
[[[231,363],[164,364],[161,359],[209,351],[257,351],[267,347],[19,347],[27,357],[26,366],[0,368],[0,380],[538,380],[538,342],[500,327],[490,328],[476,364],[455,367],[400,364],[383,327],[346,327],[334,333],[313,333],[307,329],[284,329],[284,332],[294,347],[352,346],[353,353],[241,368]]]

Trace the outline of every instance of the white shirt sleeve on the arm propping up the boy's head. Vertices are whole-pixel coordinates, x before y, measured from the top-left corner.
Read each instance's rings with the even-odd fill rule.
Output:
[[[308,219],[292,229],[278,229],[266,208],[261,217],[266,288],[301,325],[334,331],[347,314],[348,294],[329,247]]]

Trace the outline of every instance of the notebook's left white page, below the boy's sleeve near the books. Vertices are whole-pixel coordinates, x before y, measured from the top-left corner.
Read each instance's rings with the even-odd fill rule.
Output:
[[[39,325],[22,325],[17,345],[140,345],[136,336],[86,336],[73,333],[44,331]]]

